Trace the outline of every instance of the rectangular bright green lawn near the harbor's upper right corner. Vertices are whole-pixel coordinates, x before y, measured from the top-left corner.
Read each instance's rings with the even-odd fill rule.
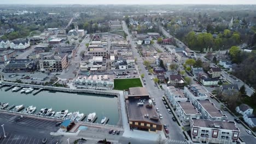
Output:
[[[141,80],[136,79],[114,79],[114,89],[125,90],[130,87],[142,87]]]

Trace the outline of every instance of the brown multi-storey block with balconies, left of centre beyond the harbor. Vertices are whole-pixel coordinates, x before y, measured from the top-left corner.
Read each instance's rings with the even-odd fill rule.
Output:
[[[39,60],[38,70],[61,72],[68,66],[67,55],[48,55]]]

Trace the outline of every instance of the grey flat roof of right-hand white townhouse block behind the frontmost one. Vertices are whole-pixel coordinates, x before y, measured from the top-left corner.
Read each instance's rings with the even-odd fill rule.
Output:
[[[211,115],[211,117],[225,117],[225,115],[211,103],[210,100],[198,100],[198,103]]]

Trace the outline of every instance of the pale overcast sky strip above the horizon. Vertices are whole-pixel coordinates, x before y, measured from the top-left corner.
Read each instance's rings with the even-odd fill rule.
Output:
[[[0,0],[0,4],[256,4],[256,0]]]

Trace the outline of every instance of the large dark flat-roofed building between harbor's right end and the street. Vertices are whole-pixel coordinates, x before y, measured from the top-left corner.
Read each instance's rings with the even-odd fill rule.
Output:
[[[149,98],[147,88],[129,88],[125,97],[130,128],[155,133],[162,130],[162,124]]]

